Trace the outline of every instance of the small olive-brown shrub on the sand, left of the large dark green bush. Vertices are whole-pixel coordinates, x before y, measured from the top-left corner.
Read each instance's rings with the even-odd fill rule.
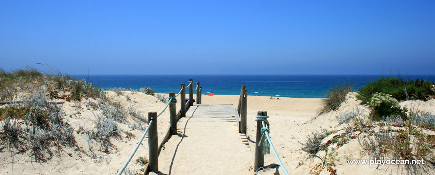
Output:
[[[327,92],[327,98],[323,99],[324,107],[319,114],[329,112],[331,110],[337,110],[342,102],[346,100],[346,95],[353,91],[353,85],[350,82],[346,84],[337,84],[333,86],[329,92]]]

